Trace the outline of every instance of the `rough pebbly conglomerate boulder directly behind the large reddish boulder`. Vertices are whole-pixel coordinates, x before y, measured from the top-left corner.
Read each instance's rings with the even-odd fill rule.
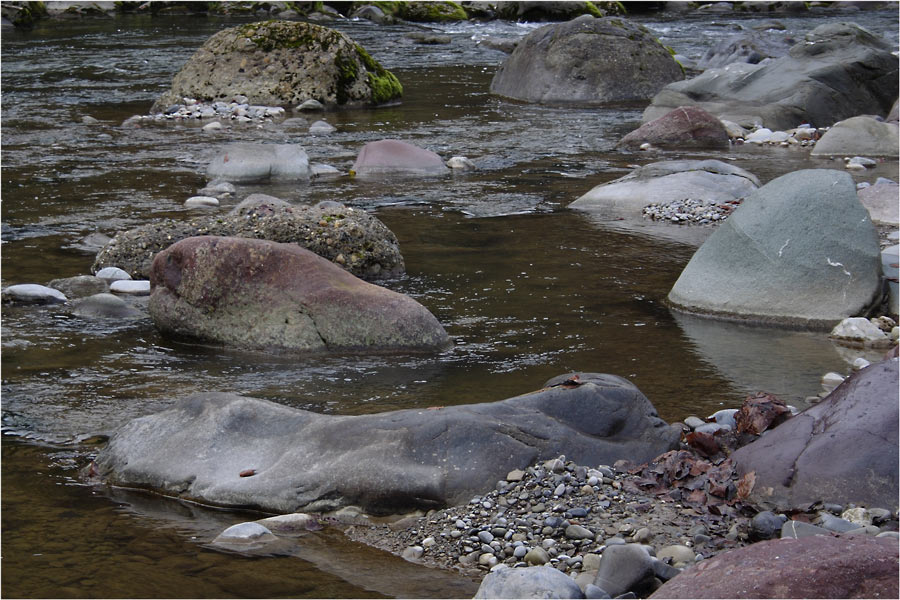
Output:
[[[121,231],[97,254],[91,270],[99,274],[100,269],[117,265],[147,279],[157,252],[198,235],[298,244],[367,280],[404,271],[397,237],[366,211],[338,202],[295,206],[266,194],[247,196],[224,217],[167,219]]]

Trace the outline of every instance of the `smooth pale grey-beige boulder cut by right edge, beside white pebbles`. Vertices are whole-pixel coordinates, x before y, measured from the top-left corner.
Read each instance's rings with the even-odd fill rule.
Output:
[[[851,117],[838,121],[816,142],[812,156],[898,156],[897,123],[874,117]]]

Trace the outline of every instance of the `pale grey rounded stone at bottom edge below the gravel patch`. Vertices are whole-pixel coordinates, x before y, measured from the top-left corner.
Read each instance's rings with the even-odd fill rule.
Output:
[[[475,598],[584,598],[575,580],[553,567],[500,569],[484,576]]]

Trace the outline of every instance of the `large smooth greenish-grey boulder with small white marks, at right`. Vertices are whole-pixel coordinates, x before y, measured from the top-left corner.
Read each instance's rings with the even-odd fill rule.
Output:
[[[881,291],[878,233],[847,173],[783,175],[750,194],[669,293],[706,315],[824,329]]]

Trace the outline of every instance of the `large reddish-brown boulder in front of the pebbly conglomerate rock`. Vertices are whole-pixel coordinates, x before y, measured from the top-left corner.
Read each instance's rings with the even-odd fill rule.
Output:
[[[187,238],[156,255],[150,282],[160,330],[239,348],[411,351],[449,341],[412,298],[294,244]]]

